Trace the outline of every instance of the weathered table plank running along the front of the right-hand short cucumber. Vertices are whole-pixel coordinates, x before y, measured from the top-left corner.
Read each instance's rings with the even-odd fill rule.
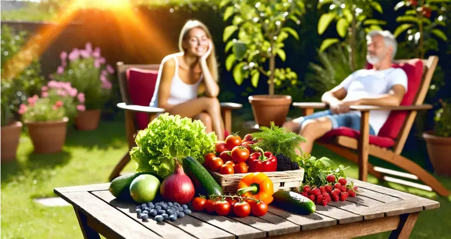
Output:
[[[337,224],[337,220],[329,218],[327,216],[312,213],[310,215],[300,215],[285,211],[275,206],[268,206],[268,211],[275,215],[301,226],[301,230],[312,230],[321,227],[329,227]]]

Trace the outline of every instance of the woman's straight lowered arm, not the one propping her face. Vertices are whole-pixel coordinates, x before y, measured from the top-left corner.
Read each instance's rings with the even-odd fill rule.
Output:
[[[172,105],[168,104],[168,99],[175,67],[175,60],[170,58],[163,63],[161,69],[160,84],[158,86],[158,107],[166,110],[172,107]]]

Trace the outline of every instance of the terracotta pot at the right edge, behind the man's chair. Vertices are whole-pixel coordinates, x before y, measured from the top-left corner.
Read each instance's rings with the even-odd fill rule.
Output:
[[[427,131],[423,138],[437,175],[451,176],[451,137],[435,136],[433,131]]]

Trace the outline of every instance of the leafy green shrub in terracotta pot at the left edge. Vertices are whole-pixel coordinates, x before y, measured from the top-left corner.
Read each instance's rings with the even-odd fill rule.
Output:
[[[27,35],[26,31],[16,32],[7,25],[0,29],[0,163],[16,159],[23,127],[16,117],[18,105],[27,95],[38,92],[44,82],[38,58],[33,54],[36,46],[20,51]]]

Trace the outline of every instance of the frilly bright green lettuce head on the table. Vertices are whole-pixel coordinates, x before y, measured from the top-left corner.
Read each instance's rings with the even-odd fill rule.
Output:
[[[164,179],[174,171],[174,159],[191,156],[203,163],[217,141],[216,134],[205,129],[200,120],[161,114],[136,135],[137,146],[130,150],[136,171],[154,172]]]

